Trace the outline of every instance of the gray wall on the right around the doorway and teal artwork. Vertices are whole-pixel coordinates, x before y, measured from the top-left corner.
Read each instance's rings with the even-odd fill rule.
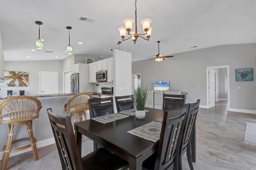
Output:
[[[256,111],[256,44],[220,45],[174,54],[158,63],[132,62],[132,73],[141,73],[142,82],[153,89],[154,81],[170,80],[171,90],[188,93],[188,102],[201,99],[206,106],[206,67],[229,65],[230,108]],[[253,68],[254,81],[236,81],[235,69]],[[238,85],[241,89],[238,89]]]

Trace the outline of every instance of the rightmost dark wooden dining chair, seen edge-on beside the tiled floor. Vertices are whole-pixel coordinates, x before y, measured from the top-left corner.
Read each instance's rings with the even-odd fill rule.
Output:
[[[200,105],[200,100],[198,99],[196,103],[188,103],[188,111],[186,114],[186,117],[184,119],[184,123],[182,125],[182,135],[181,138],[181,144],[180,144],[180,150],[178,152],[178,169],[182,170],[182,156],[184,153],[187,153],[187,159],[188,159],[188,165],[190,170],[194,170],[193,164],[192,164],[192,155],[191,155],[191,140],[192,140],[192,134],[196,116],[198,113],[198,108]]]

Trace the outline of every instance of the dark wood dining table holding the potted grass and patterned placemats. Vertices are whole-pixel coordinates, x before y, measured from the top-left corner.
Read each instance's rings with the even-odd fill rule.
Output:
[[[164,116],[164,110],[161,109],[146,107],[145,110],[149,111],[146,112],[144,119],[129,116],[106,124],[92,119],[75,123],[76,142],[80,156],[83,134],[129,162],[130,170],[141,170],[143,161],[156,152],[158,141],[151,142],[129,134],[127,131],[150,123],[151,121],[156,121],[156,119]],[[196,161],[195,141],[194,137],[194,140],[192,139],[193,162]]]

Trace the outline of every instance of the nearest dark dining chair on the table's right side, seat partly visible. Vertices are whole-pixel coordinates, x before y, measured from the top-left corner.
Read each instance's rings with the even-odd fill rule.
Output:
[[[181,142],[179,136],[186,111],[187,105],[179,109],[164,111],[158,150],[156,154],[153,154],[143,162],[142,169],[178,169],[178,146],[180,146],[179,143]]]

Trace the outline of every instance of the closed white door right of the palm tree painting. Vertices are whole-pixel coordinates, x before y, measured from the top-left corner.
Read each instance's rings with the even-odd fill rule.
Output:
[[[58,93],[58,72],[39,71],[40,95]]]

